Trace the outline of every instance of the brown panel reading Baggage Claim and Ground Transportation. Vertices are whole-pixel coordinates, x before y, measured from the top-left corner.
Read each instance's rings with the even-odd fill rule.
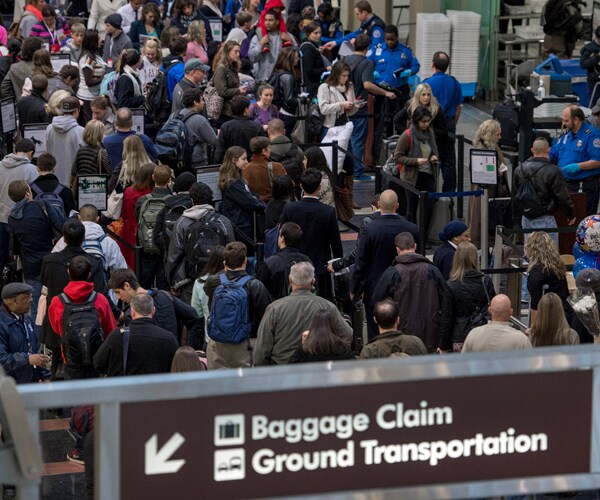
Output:
[[[590,472],[592,371],[121,408],[121,498],[260,498]]]

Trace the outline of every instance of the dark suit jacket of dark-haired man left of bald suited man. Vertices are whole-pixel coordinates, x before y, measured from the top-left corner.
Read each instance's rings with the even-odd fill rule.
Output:
[[[335,208],[316,198],[304,197],[286,204],[280,222],[295,222],[302,228],[298,251],[310,258],[316,275],[326,275],[327,262],[343,256]]]

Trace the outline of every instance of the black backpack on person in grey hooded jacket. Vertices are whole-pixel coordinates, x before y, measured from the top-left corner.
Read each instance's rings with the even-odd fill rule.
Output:
[[[215,213],[192,222],[185,235],[183,250],[189,266],[188,276],[198,276],[208,262],[208,257],[216,245],[227,244],[227,235]]]

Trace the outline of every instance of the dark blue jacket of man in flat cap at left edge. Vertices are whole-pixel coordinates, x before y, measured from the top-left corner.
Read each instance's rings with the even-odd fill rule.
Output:
[[[29,364],[29,354],[40,349],[37,333],[29,316],[17,318],[7,307],[0,305],[0,364],[17,384],[28,384],[46,379],[46,369]]]

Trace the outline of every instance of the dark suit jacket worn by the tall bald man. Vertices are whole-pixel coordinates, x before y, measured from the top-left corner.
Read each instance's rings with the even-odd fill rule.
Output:
[[[394,238],[408,232],[419,239],[417,225],[400,215],[380,215],[365,226],[354,261],[353,291],[359,293],[364,285],[364,300],[371,303],[373,291],[383,272],[393,264],[398,253]]]

